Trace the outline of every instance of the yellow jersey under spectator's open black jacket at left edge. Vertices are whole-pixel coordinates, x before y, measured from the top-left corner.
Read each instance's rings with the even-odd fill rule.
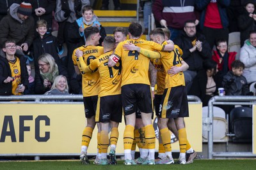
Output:
[[[8,60],[10,65],[11,73],[12,73],[12,94],[13,95],[22,95],[22,93],[17,93],[16,89],[18,85],[21,84],[21,70],[20,70],[20,59],[15,57],[16,60],[14,62]]]

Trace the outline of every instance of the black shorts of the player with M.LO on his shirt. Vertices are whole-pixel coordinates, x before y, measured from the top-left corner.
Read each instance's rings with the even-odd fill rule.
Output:
[[[122,122],[121,94],[99,97],[98,104],[96,122]]]

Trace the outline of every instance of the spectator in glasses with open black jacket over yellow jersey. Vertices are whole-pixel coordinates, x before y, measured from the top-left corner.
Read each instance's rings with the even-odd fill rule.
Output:
[[[14,40],[3,43],[4,56],[0,57],[0,96],[22,95],[28,88],[28,71],[24,57],[16,56]]]

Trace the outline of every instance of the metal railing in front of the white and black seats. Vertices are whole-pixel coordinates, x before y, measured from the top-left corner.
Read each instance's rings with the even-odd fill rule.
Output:
[[[208,132],[208,158],[212,157],[256,157],[252,152],[213,152],[213,105],[253,105],[256,96],[214,96],[208,103],[210,131]]]

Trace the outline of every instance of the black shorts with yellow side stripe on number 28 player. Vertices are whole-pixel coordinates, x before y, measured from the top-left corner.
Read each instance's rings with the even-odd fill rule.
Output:
[[[189,117],[186,87],[164,89],[158,116],[160,118]]]

